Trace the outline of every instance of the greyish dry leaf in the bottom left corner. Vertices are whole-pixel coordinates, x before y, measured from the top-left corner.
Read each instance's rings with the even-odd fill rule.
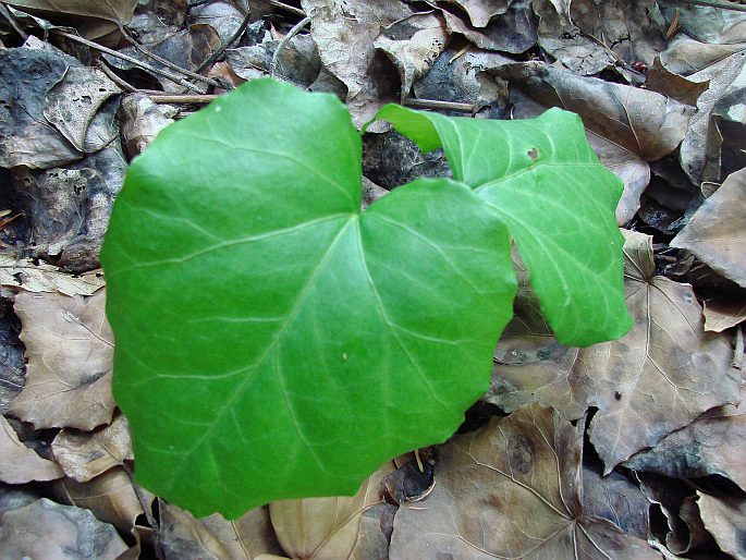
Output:
[[[114,560],[126,549],[117,529],[90,511],[46,498],[0,516],[3,559]]]

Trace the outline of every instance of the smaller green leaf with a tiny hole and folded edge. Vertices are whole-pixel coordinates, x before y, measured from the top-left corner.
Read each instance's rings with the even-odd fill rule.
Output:
[[[561,343],[629,330],[614,217],[623,184],[590,149],[579,117],[550,109],[521,121],[454,119],[388,105],[376,118],[425,151],[443,147],[453,178],[507,226]]]

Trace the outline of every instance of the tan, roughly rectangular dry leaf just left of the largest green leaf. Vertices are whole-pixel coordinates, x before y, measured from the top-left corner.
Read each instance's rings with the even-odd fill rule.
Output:
[[[91,430],[111,421],[113,348],[105,299],[105,290],[88,299],[15,296],[28,367],[26,386],[11,403],[13,415],[37,428]]]

